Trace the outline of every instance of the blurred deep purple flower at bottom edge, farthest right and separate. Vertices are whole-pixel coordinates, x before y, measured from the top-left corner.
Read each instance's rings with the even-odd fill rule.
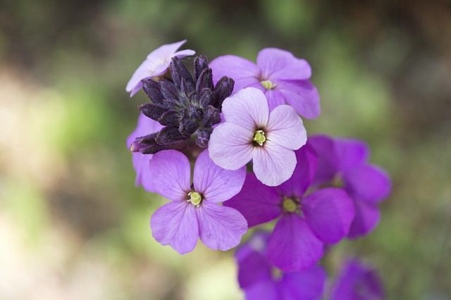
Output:
[[[383,287],[376,270],[347,261],[332,289],[331,300],[381,300]]]

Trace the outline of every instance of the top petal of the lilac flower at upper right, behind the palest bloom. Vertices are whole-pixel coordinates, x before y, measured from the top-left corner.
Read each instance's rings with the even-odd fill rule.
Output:
[[[311,76],[307,61],[281,49],[261,50],[257,56],[257,65],[261,68],[262,80],[306,80]]]

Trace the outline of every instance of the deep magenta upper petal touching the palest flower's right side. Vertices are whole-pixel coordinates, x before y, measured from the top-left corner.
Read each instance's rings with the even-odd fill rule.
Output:
[[[301,198],[314,179],[318,159],[309,142],[295,151],[295,154],[297,163],[293,175],[282,185],[276,187],[276,190],[284,196]]]

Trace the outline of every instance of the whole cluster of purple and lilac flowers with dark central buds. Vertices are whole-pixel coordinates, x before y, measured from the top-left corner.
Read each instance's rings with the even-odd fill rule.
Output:
[[[126,88],[150,99],[127,140],[136,185],[170,200],[152,215],[154,239],[180,254],[198,239],[227,251],[249,228],[274,222],[236,251],[246,299],[319,299],[326,286],[319,261],[333,244],[376,227],[388,175],[368,163],[362,141],[307,138],[302,117],[321,112],[307,61],[268,48],[257,64],[232,55],[208,63],[183,58],[194,55],[177,51],[185,42],[152,51]],[[331,299],[359,299],[342,296],[372,276],[355,265]],[[379,299],[374,285],[367,289]]]

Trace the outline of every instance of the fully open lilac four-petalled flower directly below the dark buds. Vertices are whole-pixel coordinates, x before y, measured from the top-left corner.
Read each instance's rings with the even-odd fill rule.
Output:
[[[199,154],[190,185],[190,162],[175,150],[161,151],[149,162],[156,192],[172,201],[152,215],[152,235],[180,254],[194,249],[197,239],[211,249],[226,251],[240,244],[247,232],[245,218],[235,209],[218,205],[235,196],[246,170],[219,168],[208,150]]]

